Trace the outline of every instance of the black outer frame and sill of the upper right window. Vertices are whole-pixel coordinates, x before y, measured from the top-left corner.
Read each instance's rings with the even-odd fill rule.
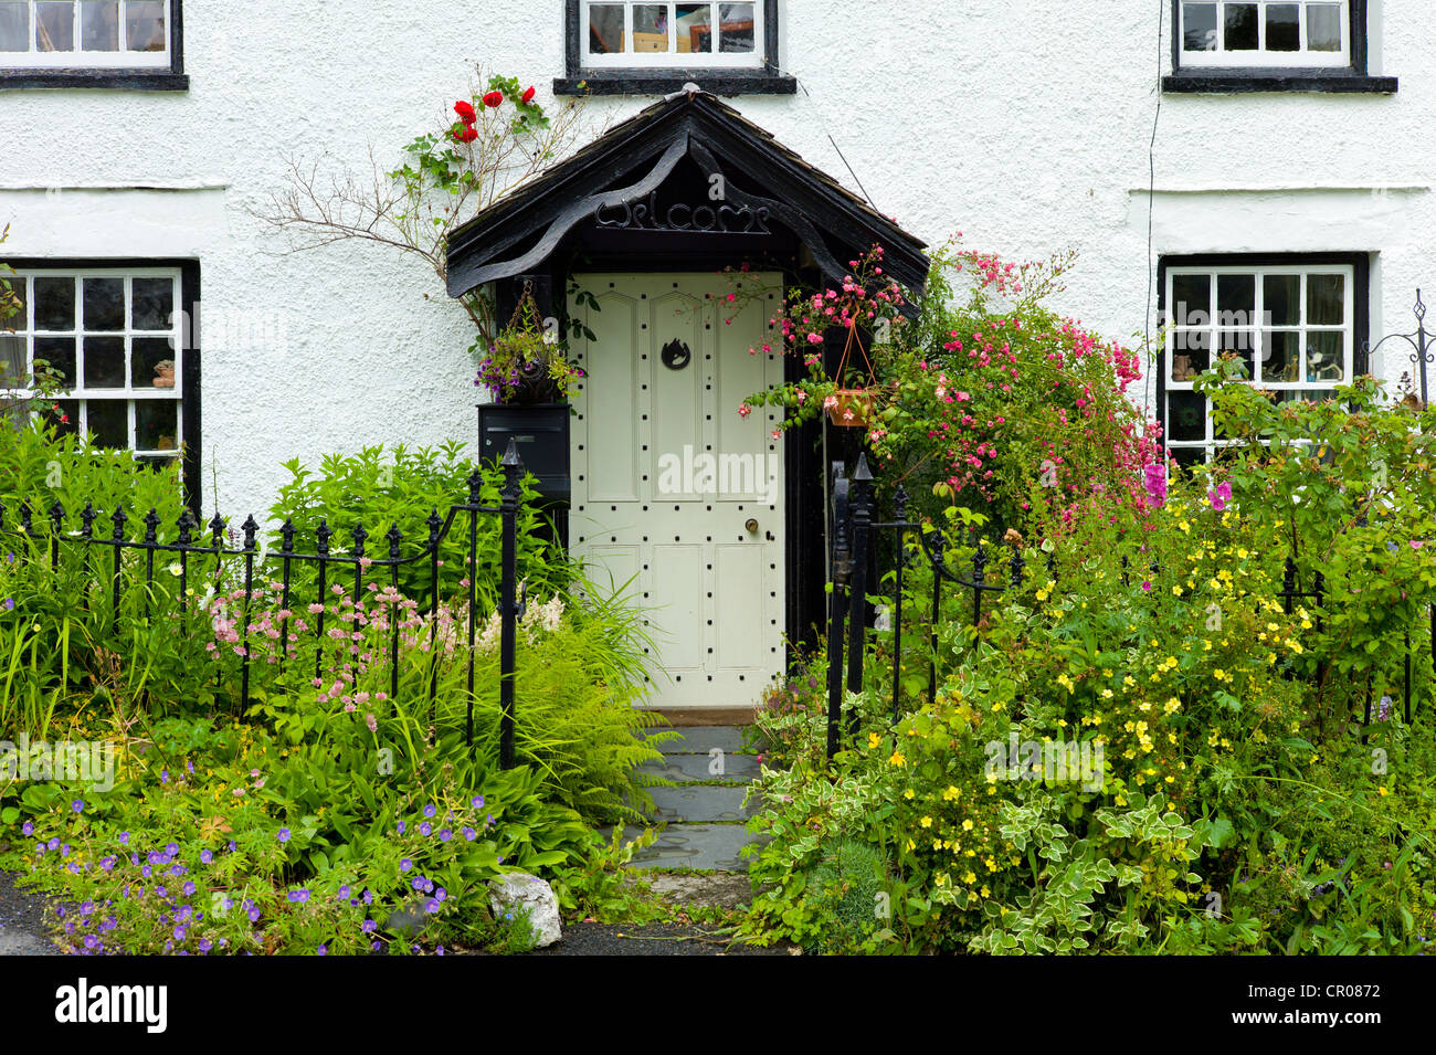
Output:
[[[1391,95],[1397,79],[1367,72],[1367,0],[1350,0],[1348,66],[1182,66],[1182,0],[1172,1],[1172,73],[1163,92],[1235,95],[1246,92],[1341,92]]]

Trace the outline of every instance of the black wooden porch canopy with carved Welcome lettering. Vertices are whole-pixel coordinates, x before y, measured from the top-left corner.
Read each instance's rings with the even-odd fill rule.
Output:
[[[607,263],[748,260],[840,281],[883,247],[919,294],[925,244],[695,85],[605,132],[454,231],[448,293]]]

